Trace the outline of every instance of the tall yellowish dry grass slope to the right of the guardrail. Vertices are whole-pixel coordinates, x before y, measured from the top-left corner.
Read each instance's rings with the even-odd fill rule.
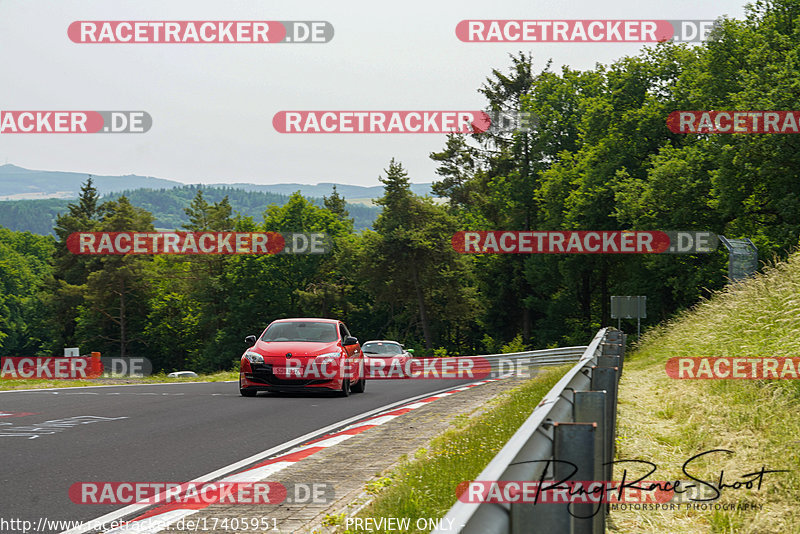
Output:
[[[725,490],[720,501],[763,510],[611,514],[611,532],[800,532],[800,381],[668,378],[665,363],[679,356],[800,356],[800,254],[648,332],[620,387],[618,459],[650,460],[669,480],[685,480],[683,462],[712,448],[734,454],[703,474],[724,469],[728,482],[762,465],[788,469],[767,475],[760,491]]]

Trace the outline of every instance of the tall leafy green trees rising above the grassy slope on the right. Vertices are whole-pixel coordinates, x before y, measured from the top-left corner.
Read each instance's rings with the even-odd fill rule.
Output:
[[[800,136],[681,135],[677,110],[800,109],[800,2],[758,1],[700,46],[660,43],[587,71],[512,57],[479,92],[535,131],[451,136],[434,191],[459,226],[512,230],[710,230],[750,237],[762,259],[800,236]],[[726,283],[727,254],[487,255],[473,272],[495,339],[585,341],[611,295],[646,295],[659,321]]]

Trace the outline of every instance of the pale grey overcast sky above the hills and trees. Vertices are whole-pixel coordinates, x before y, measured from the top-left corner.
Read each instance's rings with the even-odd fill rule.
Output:
[[[742,18],[743,0],[0,0],[0,110],[144,110],[144,134],[0,134],[0,164],[185,183],[436,178],[442,134],[280,134],[281,110],[483,109],[509,54],[588,69],[636,43],[464,43],[463,19]],[[76,20],[325,20],[325,44],[76,44]]]

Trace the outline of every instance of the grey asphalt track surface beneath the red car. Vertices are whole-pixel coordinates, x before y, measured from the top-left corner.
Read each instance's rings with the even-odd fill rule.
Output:
[[[87,521],[122,508],[73,503],[76,482],[185,482],[348,417],[468,382],[373,380],[348,398],[243,398],[223,382],[0,392],[0,531],[22,532],[4,519]]]

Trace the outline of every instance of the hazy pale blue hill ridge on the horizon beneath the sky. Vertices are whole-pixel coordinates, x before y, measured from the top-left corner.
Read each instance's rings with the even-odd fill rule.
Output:
[[[85,182],[86,178],[89,176],[88,173],[36,171],[11,164],[0,165],[0,201],[77,198],[80,194],[81,184]],[[136,174],[129,174],[126,176],[91,176],[97,191],[101,195],[133,189],[169,189],[186,185],[174,180],[139,176]],[[381,185],[370,187],[347,184],[335,185],[339,194],[347,199],[374,199],[383,195],[383,186]],[[331,194],[333,186],[333,183],[326,182],[316,185],[293,183],[268,185],[216,183],[206,184],[204,187],[225,187],[243,189],[245,191],[276,193],[279,195],[290,195],[295,191],[300,191],[305,197],[322,198],[323,196]],[[417,195],[428,195],[431,192],[431,184],[411,184],[411,190]]]

